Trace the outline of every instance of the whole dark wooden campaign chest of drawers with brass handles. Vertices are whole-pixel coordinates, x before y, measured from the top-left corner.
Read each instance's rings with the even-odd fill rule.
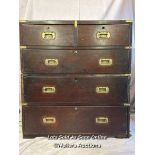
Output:
[[[23,137],[129,137],[130,21],[20,22]]]

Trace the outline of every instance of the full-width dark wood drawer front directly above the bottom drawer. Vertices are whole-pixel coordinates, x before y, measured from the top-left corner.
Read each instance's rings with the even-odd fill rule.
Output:
[[[128,77],[25,76],[24,102],[50,105],[120,105],[128,102]]]

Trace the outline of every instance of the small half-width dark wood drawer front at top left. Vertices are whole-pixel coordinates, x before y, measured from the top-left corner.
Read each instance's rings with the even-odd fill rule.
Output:
[[[20,25],[21,45],[74,46],[73,25]]]

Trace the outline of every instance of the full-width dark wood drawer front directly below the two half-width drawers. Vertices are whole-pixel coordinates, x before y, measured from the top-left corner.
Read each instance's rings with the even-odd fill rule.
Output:
[[[130,73],[130,50],[22,49],[23,73]]]

